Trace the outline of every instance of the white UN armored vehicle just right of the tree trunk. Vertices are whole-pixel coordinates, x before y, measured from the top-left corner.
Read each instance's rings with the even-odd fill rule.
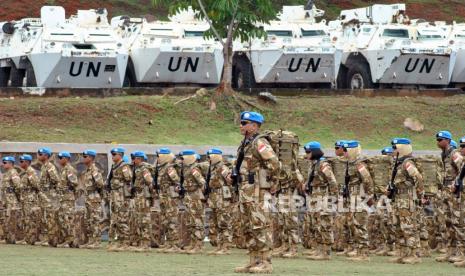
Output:
[[[279,20],[263,25],[265,39],[235,42],[233,85],[335,87],[342,51],[330,41],[324,14],[311,5],[283,6]]]

